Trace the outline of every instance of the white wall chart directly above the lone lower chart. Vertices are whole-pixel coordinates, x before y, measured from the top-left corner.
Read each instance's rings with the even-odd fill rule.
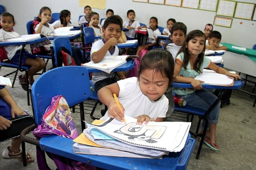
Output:
[[[236,1],[220,0],[216,15],[233,17],[235,8],[236,8]]]

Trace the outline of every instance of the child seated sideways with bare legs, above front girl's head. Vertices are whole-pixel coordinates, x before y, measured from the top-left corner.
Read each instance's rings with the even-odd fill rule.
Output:
[[[147,50],[151,50],[152,48],[154,48],[155,45],[157,45],[157,35],[161,35],[161,32],[159,31],[158,29],[158,20],[157,20],[157,17],[151,17],[150,20],[149,20],[149,28],[151,30],[153,30],[153,36],[154,38],[150,38],[148,37],[148,40],[147,40],[147,44],[145,45],[141,45],[138,49],[137,49],[137,52],[136,52],[136,55],[138,56],[140,54],[140,51],[142,49],[147,49]]]

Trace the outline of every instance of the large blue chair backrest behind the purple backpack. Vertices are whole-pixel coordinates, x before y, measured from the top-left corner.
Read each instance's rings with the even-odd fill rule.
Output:
[[[59,67],[42,74],[32,85],[36,126],[41,124],[53,96],[63,95],[71,107],[85,101],[90,93],[89,74],[84,67]]]

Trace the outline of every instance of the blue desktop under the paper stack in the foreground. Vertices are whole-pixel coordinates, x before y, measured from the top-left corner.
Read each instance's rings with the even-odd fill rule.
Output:
[[[45,136],[39,141],[42,150],[107,170],[185,170],[195,147],[195,139],[190,138],[189,134],[180,152],[171,152],[163,159],[142,159],[76,154],[73,151],[74,143],[73,139],[61,136]]]

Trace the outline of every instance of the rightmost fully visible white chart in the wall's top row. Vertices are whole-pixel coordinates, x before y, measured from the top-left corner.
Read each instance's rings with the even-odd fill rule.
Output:
[[[237,2],[234,18],[241,18],[251,20],[253,16],[254,3],[241,3]]]

